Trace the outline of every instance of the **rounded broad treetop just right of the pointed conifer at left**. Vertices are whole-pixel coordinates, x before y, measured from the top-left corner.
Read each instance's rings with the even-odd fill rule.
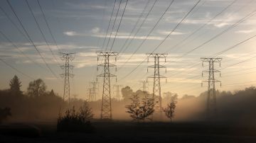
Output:
[[[28,95],[29,96],[42,96],[46,93],[46,84],[42,79],[36,79],[28,84]]]

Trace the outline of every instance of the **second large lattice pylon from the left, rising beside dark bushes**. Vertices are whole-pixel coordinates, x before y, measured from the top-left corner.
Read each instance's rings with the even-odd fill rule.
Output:
[[[110,91],[110,77],[116,77],[114,74],[110,74],[110,67],[116,67],[114,64],[110,64],[110,57],[115,57],[115,61],[117,60],[117,52],[97,52],[97,61],[99,61],[99,57],[104,58],[104,63],[98,64],[98,67],[104,67],[103,73],[97,75],[103,77],[103,90],[102,90],[102,109],[101,109],[101,119],[110,119],[112,120],[112,107],[111,107],[111,91]],[[117,67],[116,67],[117,70]]]

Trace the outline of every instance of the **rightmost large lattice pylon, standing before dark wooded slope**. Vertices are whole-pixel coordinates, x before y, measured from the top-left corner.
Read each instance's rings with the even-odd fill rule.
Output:
[[[204,62],[208,62],[208,65],[209,65],[209,69],[202,71],[202,76],[203,76],[203,73],[208,74],[208,79],[202,81],[202,86],[203,86],[203,82],[208,83],[206,110],[207,110],[207,115],[208,115],[208,118],[209,118],[210,115],[215,114],[216,110],[217,110],[215,83],[219,82],[220,86],[221,86],[221,81],[215,79],[214,74],[215,73],[220,73],[220,71],[218,69],[214,68],[214,63],[216,63],[216,62],[220,63],[222,58],[205,58],[205,57],[202,57],[201,60],[202,60],[202,66],[203,66]]]

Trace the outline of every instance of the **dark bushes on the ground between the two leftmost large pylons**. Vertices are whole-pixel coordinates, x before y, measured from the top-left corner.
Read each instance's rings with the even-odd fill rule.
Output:
[[[90,123],[92,117],[92,108],[85,101],[78,112],[75,111],[75,106],[73,106],[72,109],[66,110],[63,117],[59,115],[57,130],[64,132],[92,132],[93,127]]]

